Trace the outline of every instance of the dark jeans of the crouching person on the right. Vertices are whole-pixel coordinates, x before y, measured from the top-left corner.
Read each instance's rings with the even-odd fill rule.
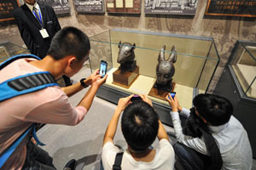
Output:
[[[211,162],[210,156],[202,155],[201,153],[189,148],[180,143],[173,144],[173,149],[177,156],[177,162],[185,170],[203,170]]]

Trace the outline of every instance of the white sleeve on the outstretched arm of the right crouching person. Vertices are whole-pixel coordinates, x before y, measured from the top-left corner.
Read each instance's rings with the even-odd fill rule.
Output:
[[[183,134],[183,128],[181,126],[181,122],[179,119],[179,115],[177,112],[171,112],[172,123],[175,131],[175,136],[177,141],[187,145],[189,148],[192,148],[201,154],[208,155],[207,147],[204,139],[202,138],[193,138],[191,136],[187,136]]]

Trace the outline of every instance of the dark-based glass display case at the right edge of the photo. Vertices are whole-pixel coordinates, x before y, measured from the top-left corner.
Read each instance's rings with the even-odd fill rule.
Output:
[[[230,99],[256,156],[256,42],[237,41],[214,94]]]

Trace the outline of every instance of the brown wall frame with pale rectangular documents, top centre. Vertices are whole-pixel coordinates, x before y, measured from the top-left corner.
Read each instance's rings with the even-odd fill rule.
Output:
[[[106,0],[108,13],[141,13],[141,0]]]

